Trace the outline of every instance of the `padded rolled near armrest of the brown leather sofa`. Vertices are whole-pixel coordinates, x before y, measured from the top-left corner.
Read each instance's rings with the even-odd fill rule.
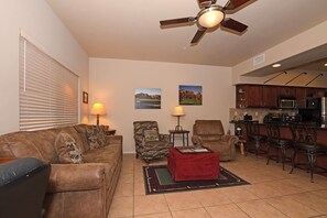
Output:
[[[52,164],[47,193],[99,189],[103,186],[103,163]]]

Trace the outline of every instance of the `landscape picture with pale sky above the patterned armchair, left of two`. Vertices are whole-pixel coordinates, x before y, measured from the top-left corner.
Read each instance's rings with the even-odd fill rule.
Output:
[[[135,109],[161,109],[160,88],[135,88]]]

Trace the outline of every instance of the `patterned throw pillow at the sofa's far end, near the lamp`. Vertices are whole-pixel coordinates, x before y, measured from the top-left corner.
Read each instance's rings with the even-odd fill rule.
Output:
[[[103,126],[90,126],[86,129],[86,137],[89,148],[98,149],[108,144],[105,127]]]

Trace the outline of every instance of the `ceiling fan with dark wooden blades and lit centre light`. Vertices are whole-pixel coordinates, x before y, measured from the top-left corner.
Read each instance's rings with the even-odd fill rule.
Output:
[[[229,0],[225,7],[215,4],[217,0],[198,0],[200,11],[196,17],[179,18],[160,21],[162,26],[172,24],[194,23],[198,25],[198,30],[190,41],[192,44],[198,43],[207,29],[221,25],[226,29],[242,33],[248,25],[240,23],[231,18],[225,18],[225,11],[233,11],[251,0]]]

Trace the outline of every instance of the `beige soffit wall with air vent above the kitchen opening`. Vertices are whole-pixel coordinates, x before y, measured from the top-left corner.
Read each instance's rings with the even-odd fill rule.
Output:
[[[283,59],[286,59],[288,57],[292,57],[294,55],[301,54],[305,51],[315,48],[319,45],[324,45],[327,43],[327,21],[294,36],[290,40],[286,40],[282,42],[281,44],[277,44],[266,51],[262,51],[261,54],[265,54],[265,62],[259,65],[253,66],[252,64],[252,57],[233,66],[232,67],[232,83],[233,84],[241,84],[241,83],[262,83],[266,80],[266,78],[263,77],[248,77],[242,76],[247,73],[250,73],[254,69],[262,68],[264,66],[270,66],[274,63],[279,63]],[[260,54],[258,54],[260,55]],[[257,56],[257,55],[254,55]],[[301,63],[298,63],[301,65]],[[313,76],[315,76],[313,74]],[[279,85],[283,85],[286,79],[281,81]],[[326,80],[325,80],[326,81]],[[296,85],[296,84],[294,84]],[[301,85],[301,84],[297,84]],[[326,87],[323,86],[323,87]]]

